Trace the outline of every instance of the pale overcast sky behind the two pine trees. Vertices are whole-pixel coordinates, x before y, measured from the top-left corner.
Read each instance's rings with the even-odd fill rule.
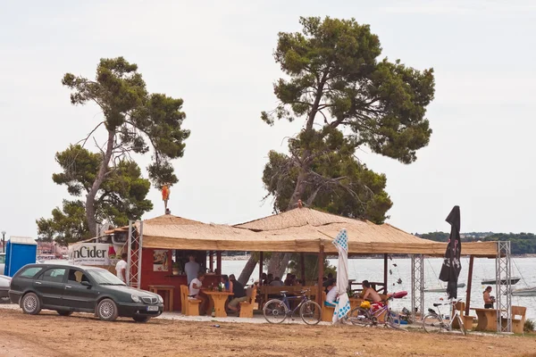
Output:
[[[92,78],[100,58],[120,55],[138,63],[150,92],[184,100],[191,137],[173,162],[172,214],[228,224],[271,214],[267,154],[284,152],[301,125],[269,127],[260,112],[276,105],[277,34],[299,30],[300,16],[354,17],[380,37],[381,58],[435,71],[433,134],[417,161],[358,153],[387,175],[390,224],[448,231],[457,204],[462,231],[536,231],[536,4],[493,0],[1,2],[0,230],[37,237],[35,220],[69,198],[51,179],[54,154],[102,113],[71,105],[61,79]],[[148,198],[155,209],[144,218],[163,214],[160,192]]]

